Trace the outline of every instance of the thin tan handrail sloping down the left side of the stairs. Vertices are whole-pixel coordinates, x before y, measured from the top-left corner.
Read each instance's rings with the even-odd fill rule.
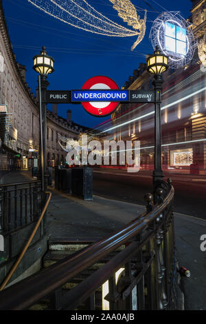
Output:
[[[16,271],[16,267],[18,267],[19,263],[23,259],[23,256],[25,255],[25,252],[27,252],[27,248],[30,246],[30,243],[32,242],[32,239],[33,239],[34,235],[36,234],[36,231],[38,230],[38,226],[40,225],[40,223],[41,223],[41,221],[43,219],[43,216],[45,215],[45,212],[46,212],[47,207],[49,205],[49,201],[51,199],[52,193],[51,192],[45,192],[45,194],[49,194],[49,197],[47,199],[47,202],[45,203],[45,207],[43,208],[41,216],[39,217],[38,222],[36,223],[36,226],[34,227],[34,230],[33,230],[32,234],[30,235],[30,239],[27,241],[25,247],[23,248],[23,251],[21,252],[21,254],[19,256],[19,258],[16,260],[16,262],[12,266],[12,269],[10,270],[8,275],[5,277],[3,283],[1,284],[0,291],[4,289],[4,287],[5,287],[5,285],[7,285],[8,281],[10,281],[10,278],[11,278],[12,274],[14,274],[14,272]]]

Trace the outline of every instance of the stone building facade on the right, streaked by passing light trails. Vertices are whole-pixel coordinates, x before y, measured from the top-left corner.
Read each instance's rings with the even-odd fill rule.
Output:
[[[192,1],[194,37],[203,38],[206,30],[206,1]],[[206,72],[198,51],[189,65],[163,74],[162,92],[162,165],[163,170],[206,173]],[[124,88],[152,90],[152,77],[146,63],[129,77]],[[154,104],[121,104],[112,116],[113,139],[138,140],[141,169],[154,168]],[[132,122],[130,122],[132,121]]]

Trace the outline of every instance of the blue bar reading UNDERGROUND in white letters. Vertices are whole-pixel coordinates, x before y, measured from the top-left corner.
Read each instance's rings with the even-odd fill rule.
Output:
[[[128,90],[71,90],[71,102],[128,101]]]

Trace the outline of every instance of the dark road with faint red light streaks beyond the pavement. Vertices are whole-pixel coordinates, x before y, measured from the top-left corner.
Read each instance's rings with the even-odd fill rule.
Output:
[[[165,174],[175,190],[176,212],[206,219],[206,176]],[[110,199],[145,205],[144,194],[152,190],[152,172],[128,174],[124,170],[94,170],[93,193]]]

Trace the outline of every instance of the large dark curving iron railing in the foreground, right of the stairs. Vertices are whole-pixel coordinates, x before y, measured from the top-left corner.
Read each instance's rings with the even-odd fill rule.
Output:
[[[0,310],[42,299],[48,310],[176,309],[173,198],[161,181],[157,205],[147,194],[147,211],[121,230],[3,290]]]

